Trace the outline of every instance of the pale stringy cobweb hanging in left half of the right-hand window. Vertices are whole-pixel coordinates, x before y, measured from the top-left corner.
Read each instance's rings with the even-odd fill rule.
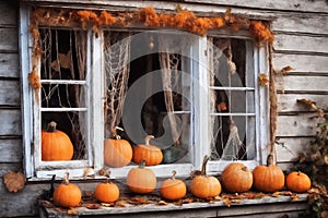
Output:
[[[214,45],[210,46],[210,56],[212,56],[210,58],[210,85],[232,87],[232,75],[237,72],[236,64],[232,60],[231,39],[211,38],[210,45]],[[219,72],[221,64],[227,65],[226,72]],[[226,80],[221,76],[222,74],[227,74]],[[210,95],[210,111],[223,112],[220,111],[220,104],[226,104],[226,112],[232,112],[232,94],[230,90],[212,90]],[[218,102],[219,99],[220,102]],[[212,133],[210,141],[212,159],[238,160],[244,158],[246,155],[245,145],[239,138],[238,126],[233,116],[212,116],[210,132]]]

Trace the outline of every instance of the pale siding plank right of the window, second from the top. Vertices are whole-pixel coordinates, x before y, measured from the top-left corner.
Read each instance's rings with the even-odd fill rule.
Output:
[[[326,7],[326,11],[328,11]],[[288,33],[308,33],[325,34],[328,33],[327,14],[300,14],[300,15],[280,15],[272,22],[273,32]]]

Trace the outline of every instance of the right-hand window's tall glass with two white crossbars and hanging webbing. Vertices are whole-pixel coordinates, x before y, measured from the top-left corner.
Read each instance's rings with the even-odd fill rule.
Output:
[[[244,39],[213,38],[214,78],[210,87],[213,159],[255,159],[255,76],[253,62],[246,64],[246,60],[251,60],[249,56],[253,51],[246,49]]]

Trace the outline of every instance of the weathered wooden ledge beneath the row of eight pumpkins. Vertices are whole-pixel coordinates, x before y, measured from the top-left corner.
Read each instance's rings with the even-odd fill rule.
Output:
[[[96,209],[90,209],[86,206],[75,207],[73,209],[62,209],[55,207],[47,201],[39,201],[40,217],[259,217],[265,214],[292,215],[305,213],[308,207],[307,194],[262,196],[260,198],[230,198],[225,201],[224,196],[214,202],[195,202],[176,205],[162,201],[159,203],[133,205],[125,203],[121,206],[99,206]],[[256,217],[256,216],[255,216]],[[297,216],[296,216],[297,217]]]

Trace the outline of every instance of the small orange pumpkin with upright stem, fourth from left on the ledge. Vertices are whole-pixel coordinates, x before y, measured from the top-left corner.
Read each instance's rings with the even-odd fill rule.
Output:
[[[175,179],[176,171],[173,171],[171,179],[167,179],[162,182],[160,193],[161,196],[165,199],[180,199],[187,193],[187,186],[184,181]]]

